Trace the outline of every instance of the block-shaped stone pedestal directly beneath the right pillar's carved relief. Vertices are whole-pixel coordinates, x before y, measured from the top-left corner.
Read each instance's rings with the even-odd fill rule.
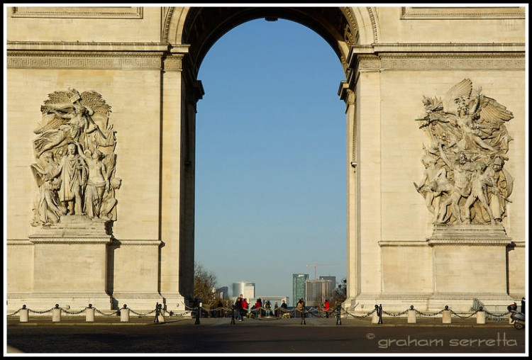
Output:
[[[511,300],[506,266],[511,238],[502,225],[436,225],[427,244],[434,261],[429,309],[449,305],[455,311],[470,311],[475,298],[484,305]]]

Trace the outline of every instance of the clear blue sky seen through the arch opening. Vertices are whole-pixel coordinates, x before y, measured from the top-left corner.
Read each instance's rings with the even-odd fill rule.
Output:
[[[345,79],[320,35],[279,19],[233,28],[199,69],[196,262],[218,286],[292,298],[292,274],[346,275]]]

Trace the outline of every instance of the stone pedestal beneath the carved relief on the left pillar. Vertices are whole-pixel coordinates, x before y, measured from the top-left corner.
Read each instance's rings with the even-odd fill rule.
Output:
[[[85,215],[65,215],[60,223],[39,227],[29,236],[33,243],[33,291],[19,294],[32,310],[61,308],[82,310],[91,303],[111,310],[106,293],[107,244],[111,235],[106,223]]]

